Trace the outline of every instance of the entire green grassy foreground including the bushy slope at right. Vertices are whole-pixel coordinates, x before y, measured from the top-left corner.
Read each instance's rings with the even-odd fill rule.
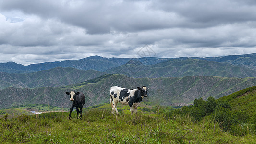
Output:
[[[120,115],[112,115],[110,104],[99,104],[84,108],[82,120],[76,119],[75,111],[69,120],[68,112],[20,115],[20,109],[11,109],[12,113],[19,111],[20,116],[7,119],[7,112],[0,110],[3,115],[0,141],[6,144],[255,144],[255,95],[256,86],[253,86],[217,100],[195,99],[194,106],[180,109],[143,102],[138,115],[132,115],[123,105],[118,105]]]

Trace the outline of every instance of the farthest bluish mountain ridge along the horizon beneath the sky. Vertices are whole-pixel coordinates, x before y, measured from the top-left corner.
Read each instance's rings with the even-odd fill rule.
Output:
[[[143,58],[104,58],[100,56],[91,56],[80,60],[65,60],[56,62],[46,62],[31,64],[24,66],[17,64],[15,62],[0,63],[0,72],[7,73],[31,73],[38,72],[42,70],[49,70],[55,67],[72,67],[79,70],[96,70],[104,72],[108,69],[122,66],[129,62],[130,60],[140,61],[144,65],[154,65],[167,60],[186,60],[187,57],[182,58],[157,58],[157,57],[143,57]],[[222,56],[222,57],[206,57],[199,58],[195,57],[193,59],[215,61],[215,62],[225,62],[232,65],[243,66],[249,69],[256,70],[256,53],[245,54],[245,55],[232,55],[232,56]]]

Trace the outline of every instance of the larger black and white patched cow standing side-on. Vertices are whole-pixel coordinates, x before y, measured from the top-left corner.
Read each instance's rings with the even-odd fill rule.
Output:
[[[137,114],[138,105],[142,101],[143,97],[147,97],[147,88],[143,86],[142,88],[137,87],[137,89],[127,89],[121,88],[118,86],[110,87],[110,102],[112,106],[112,113],[116,111],[116,114],[119,114],[117,111],[117,103],[120,102],[123,105],[129,105],[130,111]]]

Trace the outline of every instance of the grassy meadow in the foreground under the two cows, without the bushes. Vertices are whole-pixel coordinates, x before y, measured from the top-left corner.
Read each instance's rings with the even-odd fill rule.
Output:
[[[126,110],[126,109],[125,109]],[[6,115],[5,115],[6,116]],[[0,119],[0,142],[47,144],[253,144],[256,137],[232,136],[209,119],[193,122],[187,116],[165,119],[164,114],[120,116],[110,109],[83,112],[83,120],[68,112],[21,115]]]

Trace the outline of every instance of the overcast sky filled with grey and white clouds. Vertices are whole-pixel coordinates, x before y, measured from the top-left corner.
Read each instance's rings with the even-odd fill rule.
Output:
[[[0,63],[256,53],[256,0],[0,0]]]

